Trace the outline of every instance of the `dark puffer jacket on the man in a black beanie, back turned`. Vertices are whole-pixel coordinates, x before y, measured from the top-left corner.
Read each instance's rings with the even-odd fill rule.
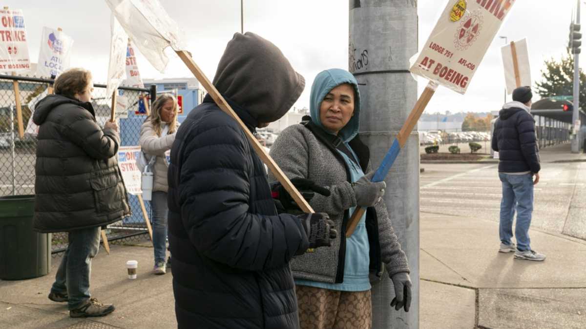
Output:
[[[492,149],[499,152],[499,172],[539,173],[535,120],[520,102],[509,102],[499,112]]]

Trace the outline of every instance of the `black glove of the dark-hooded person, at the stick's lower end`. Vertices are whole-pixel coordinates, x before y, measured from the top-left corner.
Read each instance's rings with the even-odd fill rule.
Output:
[[[334,223],[326,213],[303,214],[297,218],[305,229],[309,248],[331,246],[331,240],[338,237],[338,231],[333,228]]]

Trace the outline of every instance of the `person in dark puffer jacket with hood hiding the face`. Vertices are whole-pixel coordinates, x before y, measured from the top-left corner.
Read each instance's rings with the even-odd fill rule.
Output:
[[[247,128],[281,118],[305,81],[263,38],[236,33],[213,81]],[[289,261],[330,245],[326,214],[277,214],[243,129],[210,95],[171,149],[169,246],[179,328],[298,328]]]

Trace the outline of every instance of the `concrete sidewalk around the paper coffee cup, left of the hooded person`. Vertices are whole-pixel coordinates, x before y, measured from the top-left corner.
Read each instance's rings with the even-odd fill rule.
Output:
[[[146,242],[144,245],[150,245]],[[70,318],[66,304],[47,299],[61,258],[49,275],[21,281],[0,280],[0,328],[176,328],[171,273],[152,275],[153,249],[111,245],[92,262],[93,297],[113,303],[114,313],[97,318]],[[138,261],[137,279],[129,280],[126,261]]]

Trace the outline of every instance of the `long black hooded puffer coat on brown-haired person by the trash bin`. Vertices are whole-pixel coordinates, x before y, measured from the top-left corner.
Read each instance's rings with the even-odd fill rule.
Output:
[[[62,232],[130,215],[118,168],[120,136],[98,126],[89,102],[48,95],[35,107],[39,125],[34,228]]]

